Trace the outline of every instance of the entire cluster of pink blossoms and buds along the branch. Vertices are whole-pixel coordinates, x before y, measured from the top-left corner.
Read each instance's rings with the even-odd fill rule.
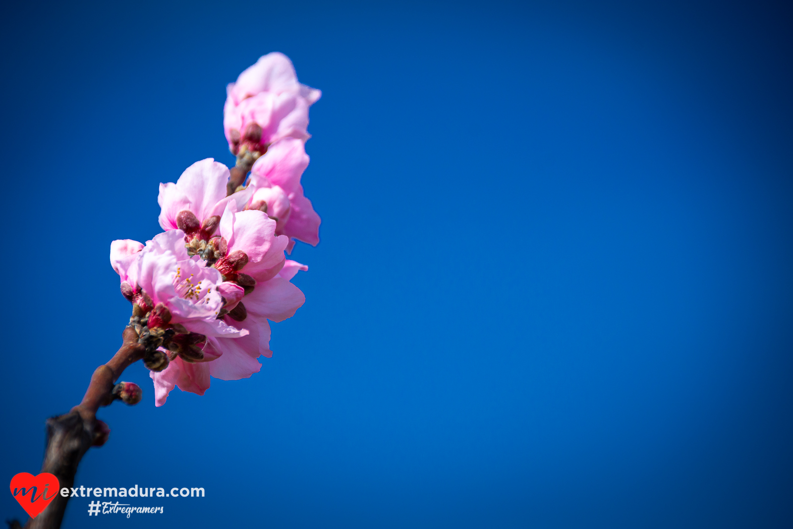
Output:
[[[257,358],[272,355],[268,320],[303,305],[290,280],[308,267],[285,252],[295,240],[319,243],[320,217],[301,186],[308,107],[319,98],[320,90],[297,82],[286,56],[263,56],[228,85],[232,171],[211,158],[193,163],[159,186],[165,232],[145,245],[111,243],[157,406],[175,386],[203,395],[210,377],[258,372]]]

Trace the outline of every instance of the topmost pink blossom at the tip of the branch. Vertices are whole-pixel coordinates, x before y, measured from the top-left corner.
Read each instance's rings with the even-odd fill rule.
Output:
[[[241,145],[263,152],[285,137],[308,140],[308,107],[322,95],[297,82],[292,61],[278,52],[262,56],[226,92],[223,125],[235,155]]]

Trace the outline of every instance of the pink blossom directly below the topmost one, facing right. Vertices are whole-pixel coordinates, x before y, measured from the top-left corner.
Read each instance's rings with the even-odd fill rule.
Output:
[[[278,235],[316,246],[320,242],[320,216],[303,193],[301,175],[306,167],[308,155],[301,140],[285,138],[272,144],[251,169],[248,189],[253,194],[248,208],[262,209],[274,218]]]

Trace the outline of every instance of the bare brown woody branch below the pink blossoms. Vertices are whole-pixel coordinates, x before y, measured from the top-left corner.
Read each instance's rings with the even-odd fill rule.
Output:
[[[101,445],[106,439],[107,426],[96,419],[96,413],[100,406],[115,400],[113,383],[132,362],[144,358],[145,347],[138,343],[135,329],[125,328],[121,337],[124,343],[109,362],[94,371],[82,402],[71,412],[47,420],[47,449],[41,471],[55,474],[62,489],[75,485],[82,456],[92,445]],[[28,520],[25,529],[58,529],[68,501],[68,497],[58,494],[40,515]]]

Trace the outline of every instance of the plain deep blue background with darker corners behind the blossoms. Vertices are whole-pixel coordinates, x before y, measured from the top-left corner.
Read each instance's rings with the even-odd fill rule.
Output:
[[[63,527],[791,527],[791,21],[6,5],[0,476],[40,468],[44,419],[120,343],[110,241],[159,232],[159,182],[233,163],[225,85],[278,50],[324,93],[305,306],[252,378],[155,408],[136,365],[144,401],[101,410],[79,485],[204,499],[72,500]]]

